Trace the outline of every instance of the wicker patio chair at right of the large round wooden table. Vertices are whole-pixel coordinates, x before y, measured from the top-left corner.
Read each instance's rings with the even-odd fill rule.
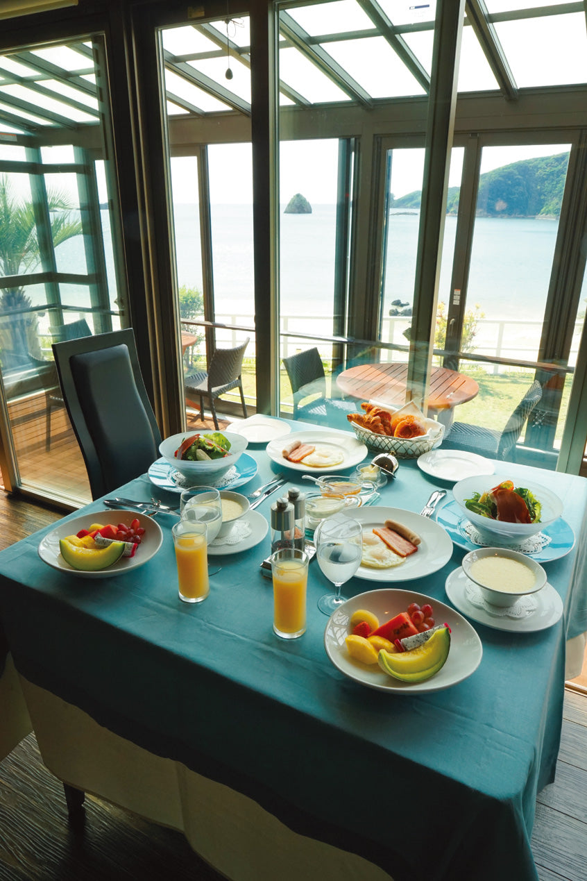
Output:
[[[535,380],[501,432],[492,428],[471,426],[466,422],[453,422],[444,437],[443,449],[461,449],[485,455],[489,459],[515,462],[517,440],[541,397],[542,386]]]

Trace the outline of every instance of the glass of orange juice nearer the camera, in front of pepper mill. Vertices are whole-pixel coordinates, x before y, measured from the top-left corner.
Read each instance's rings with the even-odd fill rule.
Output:
[[[273,629],[283,640],[305,633],[308,555],[298,548],[280,548],[271,555]]]

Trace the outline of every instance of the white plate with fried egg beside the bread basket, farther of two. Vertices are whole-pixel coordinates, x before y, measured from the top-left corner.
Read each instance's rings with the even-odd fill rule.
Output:
[[[283,456],[283,448],[292,441],[311,444],[315,447],[314,453],[306,456],[302,462],[290,462]],[[315,429],[308,432],[285,434],[269,441],[267,455],[280,468],[309,471],[312,474],[320,471],[332,473],[352,468],[363,462],[367,455],[367,448],[351,432],[340,432],[337,429],[325,429],[324,431]]]

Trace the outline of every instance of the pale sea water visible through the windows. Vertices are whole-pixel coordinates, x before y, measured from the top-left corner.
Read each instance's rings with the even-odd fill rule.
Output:
[[[291,317],[290,329],[300,323],[307,327],[311,315],[332,315],[335,212],[335,205],[315,204],[312,214],[281,214],[281,309],[282,315]],[[106,211],[102,218],[107,240]],[[388,315],[393,300],[408,308],[412,304],[418,225],[417,213],[390,215],[383,315]],[[457,218],[446,218],[439,287],[439,300],[445,303],[451,295],[456,226]],[[557,229],[557,220],[477,218],[467,307],[478,307],[487,320],[519,320],[532,315],[534,321],[541,322]],[[254,314],[252,207],[213,205],[212,230],[216,313],[250,318]],[[202,289],[197,205],[176,205],[175,232],[180,285]],[[106,268],[114,291],[110,250],[107,248]],[[62,271],[85,271],[81,238],[57,248],[57,266]],[[76,285],[64,285],[63,300],[70,305],[90,305],[87,290]]]

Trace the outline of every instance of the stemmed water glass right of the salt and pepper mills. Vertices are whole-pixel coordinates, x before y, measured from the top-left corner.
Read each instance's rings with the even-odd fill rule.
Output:
[[[353,577],[361,565],[363,529],[357,520],[344,516],[331,517],[319,524],[314,533],[314,542],[318,565],[336,588],[335,594],[320,596],[318,608],[325,615],[332,615],[346,599],[341,596],[341,586]]]

